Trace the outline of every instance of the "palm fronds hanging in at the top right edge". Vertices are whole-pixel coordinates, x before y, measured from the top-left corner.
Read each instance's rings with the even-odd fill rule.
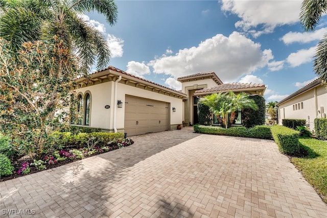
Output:
[[[326,0],[304,0],[300,11],[300,20],[305,30],[314,31],[321,15],[326,12]],[[314,70],[323,81],[327,82],[327,34],[318,43],[314,57]]]

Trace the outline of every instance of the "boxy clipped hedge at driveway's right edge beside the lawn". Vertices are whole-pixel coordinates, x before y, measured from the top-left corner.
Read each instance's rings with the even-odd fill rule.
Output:
[[[298,131],[288,127],[275,125],[271,127],[271,133],[279,151],[282,153],[294,154],[299,151]]]

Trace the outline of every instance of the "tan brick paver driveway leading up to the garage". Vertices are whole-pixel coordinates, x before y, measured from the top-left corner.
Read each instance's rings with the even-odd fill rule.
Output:
[[[327,215],[273,141],[191,128],[132,138],[130,147],[0,183],[1,216],[4,209],[39,217]]]

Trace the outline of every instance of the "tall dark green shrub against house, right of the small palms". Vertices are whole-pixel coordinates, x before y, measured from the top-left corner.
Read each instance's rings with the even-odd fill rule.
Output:
[[[258,105],[258,110],[245,108],[242,110],[242,125],[250,128],[258,125],[265,124],[266,117],[266,101],[263,96],[250,95],[249,99],[253,99],[255,104]]]

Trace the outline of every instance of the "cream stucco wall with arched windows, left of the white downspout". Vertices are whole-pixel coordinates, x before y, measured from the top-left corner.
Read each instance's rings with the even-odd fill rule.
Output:
[[[86,92],[90,93],[90,127],[110,129],[111,98],[113,98],[111,84],[106,82],[76,89],[76,93],[82,93],[83,97]],[[105,109],[105,105],[110,105],[110,109]]]

